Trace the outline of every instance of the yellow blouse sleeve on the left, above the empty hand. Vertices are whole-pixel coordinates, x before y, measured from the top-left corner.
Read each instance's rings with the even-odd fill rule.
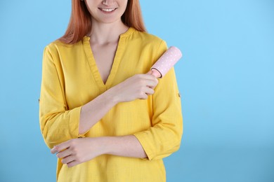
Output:
[[[44,141],[53,148],[63,141],[81,137],[79,116],[81,106],[68,109],[65,101],[65,80],[58,55],[48,46],[44,50],[42,63],[41,94],[39,99],[39,121]]]

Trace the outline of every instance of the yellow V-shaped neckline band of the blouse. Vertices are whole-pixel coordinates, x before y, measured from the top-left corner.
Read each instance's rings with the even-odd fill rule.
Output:
[[[90,37],[84,36],[83,45],[84,45],[84,51],[86,52],[86,58],[87,58],[87,61],[89,62],[91,72],[93,73],[93,78],[96,80],[96,83],[97,83],[98,87],[100,88],[100,90],[105,91],[112,86],[112,82],[117,74],[119,63],[121,62],[122,53],[124,52],[125,37],[126,37],[126,35],[129,35],[131,33],[131,31],[133,31],[133,28],[130,27],[126,32],[124,32],[123,34],[121,34],[119,36],[117,50],[115,52],[115,57],[112,62],[110,74],[108,75],[105,83],[103,82],[103,79],[100,76],[100,72],[99,72],[98,66],[96,64],[96,60],[95,60],[95,58],[93,56],[93,52],[91,50],[91,45],[89,42]]]

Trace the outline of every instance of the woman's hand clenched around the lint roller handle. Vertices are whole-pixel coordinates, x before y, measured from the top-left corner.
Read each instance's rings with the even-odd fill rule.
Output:
[[[148,99],[148,95],[154,93],[157,84],[157,78],[149,71],[131,76],[108,91],[116,102],[130,102],[135,99]]]

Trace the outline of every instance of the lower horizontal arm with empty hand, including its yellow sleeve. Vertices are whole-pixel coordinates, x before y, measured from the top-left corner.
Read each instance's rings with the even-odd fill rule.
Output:
[[[156,95],[153,95],[158,99],[154,99],[157,106],[152,127],[148,130],[123,137],[72,139],[55,146],[51,153],[58,153],[57,157],[62,158],[68,167],[104,154],[157,160],[174,153],[181,144],[183,132],[181,101],[174,69],[165,78],[159,82]]]

